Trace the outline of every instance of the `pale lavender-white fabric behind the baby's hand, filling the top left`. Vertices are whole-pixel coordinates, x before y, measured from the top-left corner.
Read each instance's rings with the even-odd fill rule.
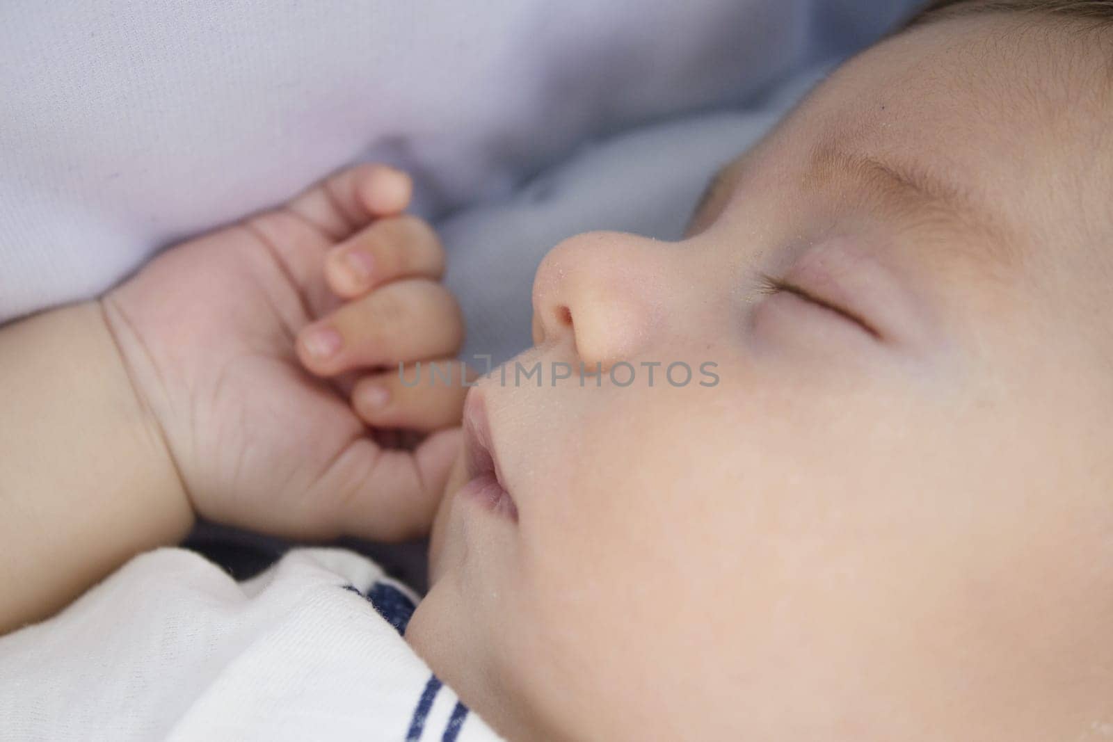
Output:
[[[353,161],[412,171],[415,210],[435,221],[486,208],[593,141],[752,108],[914,4],[7,0],[0,323],[102,293],[160,248]],[[729,129],[713,121],[691,136]],[[663,147],[653,159],[674,170],[668,187],[695,198],[718,151],[672,148],[667,128],[658,136],[647,155]],[[688,161],[693,150],[702,156]],[[604,178],[604,160],[584,175]],[[544,188],[571,188],[570,179]],[[614,195],[613,212],[624,215],[615,224],[641,228],[639,198]],[[605,209],[592,214],[592,225],[605,222]],[[648,216],[647,227],[664,221]],[[474,219],[454,225],[475,234]],[[505,258],[514,244],[491,249]]]

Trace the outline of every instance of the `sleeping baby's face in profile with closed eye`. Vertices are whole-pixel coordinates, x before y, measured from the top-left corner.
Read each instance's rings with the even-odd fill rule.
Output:
[[[516,520],[476,496],[498,486],[446,499],[407,634],[433,670],[522,739],[1107,729],[1096,43],[1007,16],[902,34],[730,167],[686,239],[558,246],[519,358],[543,387],[512,364],[472,395]],[[601,385],[551,386],[580,362]]]

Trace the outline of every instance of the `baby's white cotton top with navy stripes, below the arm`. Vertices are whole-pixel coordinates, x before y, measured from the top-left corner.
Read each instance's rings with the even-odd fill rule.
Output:
[[[0,637],[0,738],[499,740],[403,640],[414,605],[345,550],[297,548],[245,582],[149,552]]]

